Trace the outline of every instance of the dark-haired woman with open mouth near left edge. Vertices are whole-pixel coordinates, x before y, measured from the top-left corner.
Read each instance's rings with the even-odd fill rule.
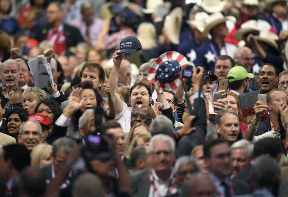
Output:
[[[7,114],[3,133],[7,133],[18,141],[19,128],[28,120],[29,113],[25,109],[14,108]]]

